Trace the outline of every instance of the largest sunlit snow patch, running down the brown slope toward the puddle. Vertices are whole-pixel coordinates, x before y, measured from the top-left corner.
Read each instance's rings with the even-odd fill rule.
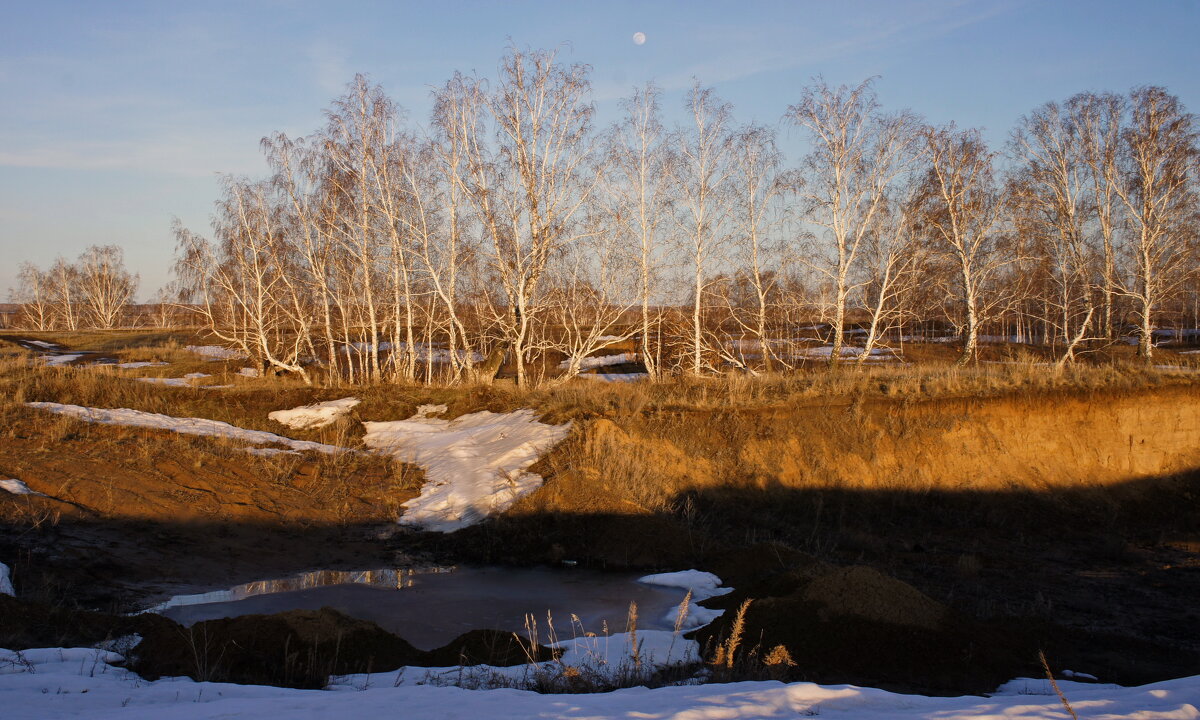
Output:
[[[570,430],[569,422],[544,425],[528,409],[484,410],[454,420],[419,412],[408,420],[362,425],[367,448],[425,469],[425,487],[404,503],[407,511],[400,522],[439,533],[503,512],[521,496],[541,487],[541,476],[524,470]]]

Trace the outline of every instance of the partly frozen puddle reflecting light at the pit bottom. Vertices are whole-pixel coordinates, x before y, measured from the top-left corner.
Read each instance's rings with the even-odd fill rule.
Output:
[[[422,650],[468,630],[524,634],[526,614],[548,642],[547,612],[559,640],[583,631],[625,630],[630,602],[640,629],[670,630],[667,617],[684,590],[638,583],[641,574],[548,568],[440,568],[430,570],[322,570],[252,582],[228,590],[178,595],[150,608],[184,625],[244,614],[332,607],[378,623]],[[578,618],[578,624],[571,616]],[[572,631],[572,625],[575,625]]]

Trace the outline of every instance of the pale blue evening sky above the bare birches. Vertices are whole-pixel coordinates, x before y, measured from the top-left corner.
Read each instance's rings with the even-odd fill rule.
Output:
[[[170,280],[172,220],[208,234],[221,175],[265,175],[259,140],[318,130],[359,72],[414,124],[433,86],[494,77],[510,43],[592,66],[600,124],[648,80],[668,122],[697,79],[774,125],[815,77],[876,77],[886,108],[1002,146],[1084,90],[1164,85],[1200,110],[1196,30],[1194,0],[0,0],[0,298],[23,262],[116,244],[148,299]]]

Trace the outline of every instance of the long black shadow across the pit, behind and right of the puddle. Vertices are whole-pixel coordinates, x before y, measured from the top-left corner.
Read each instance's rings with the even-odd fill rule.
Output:
[[[64,517],[0,524],[0,562],[13,566],[23,599],[106,611],[313,569],[700,568],[738,588],[728,607],[751,599],[762,608],[749,616],[756,635],[746,650],[787,646],[786,677],[979,691],[1004,673],[1034,672],[1036,649],[1106,680],[1200,673],[1198,500],[1200,473],[1187,473],[1042,492],[697,487],[676,497],[672,512],[509,514],[450,535]],[[814,578],[839,566],[872,568],[900,584],[847,586],[845,613],[836,602],[814,605]],[[959,618],[953,642],[936,635],[944,628],[935,637],[904,617],[852,612],[868,593],[881,594],[881,606],[924,607],[904,588]],[[14,622],[0,617],[0,647]],[[719,623],[701,640],[713,649],[725,630]],[[802,632],[815,644],[792,647]],[[864,666],[864,656],[878,662]],[[956,666],[986,672],[947,671]]]

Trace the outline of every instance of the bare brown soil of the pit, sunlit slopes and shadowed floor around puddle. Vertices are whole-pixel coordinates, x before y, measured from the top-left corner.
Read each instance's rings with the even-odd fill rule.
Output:
[[[0,559],[18,595],[58,608],[31,644],[94,641],[95,617],[76,608],[318,568],[574,560],[713,570],[738,588],[718,602],[754,599],[743,653],[786,647],[786,677],[983,691],[1036,672],[1038,649],[1103,680],[1200,673],[1196,386],[576,416],[534,468],[542,491],[454,535],[397,528],[420,475],[388,461],[266,460],[0,412],[0,476],[50,496],[0,494]],[[730,614],[701,635],[710,649]],[[259,625],[272,628],[259,655],[296,642],[287,620]],[[493,641],[439,661],[516,653]],[[322,642],[312,654],[325,662]],[[384,646],[346,667],[402,659]],[[325,671],[247,662],[238,677]],[[761,670],[739,662],[745,677]]]

